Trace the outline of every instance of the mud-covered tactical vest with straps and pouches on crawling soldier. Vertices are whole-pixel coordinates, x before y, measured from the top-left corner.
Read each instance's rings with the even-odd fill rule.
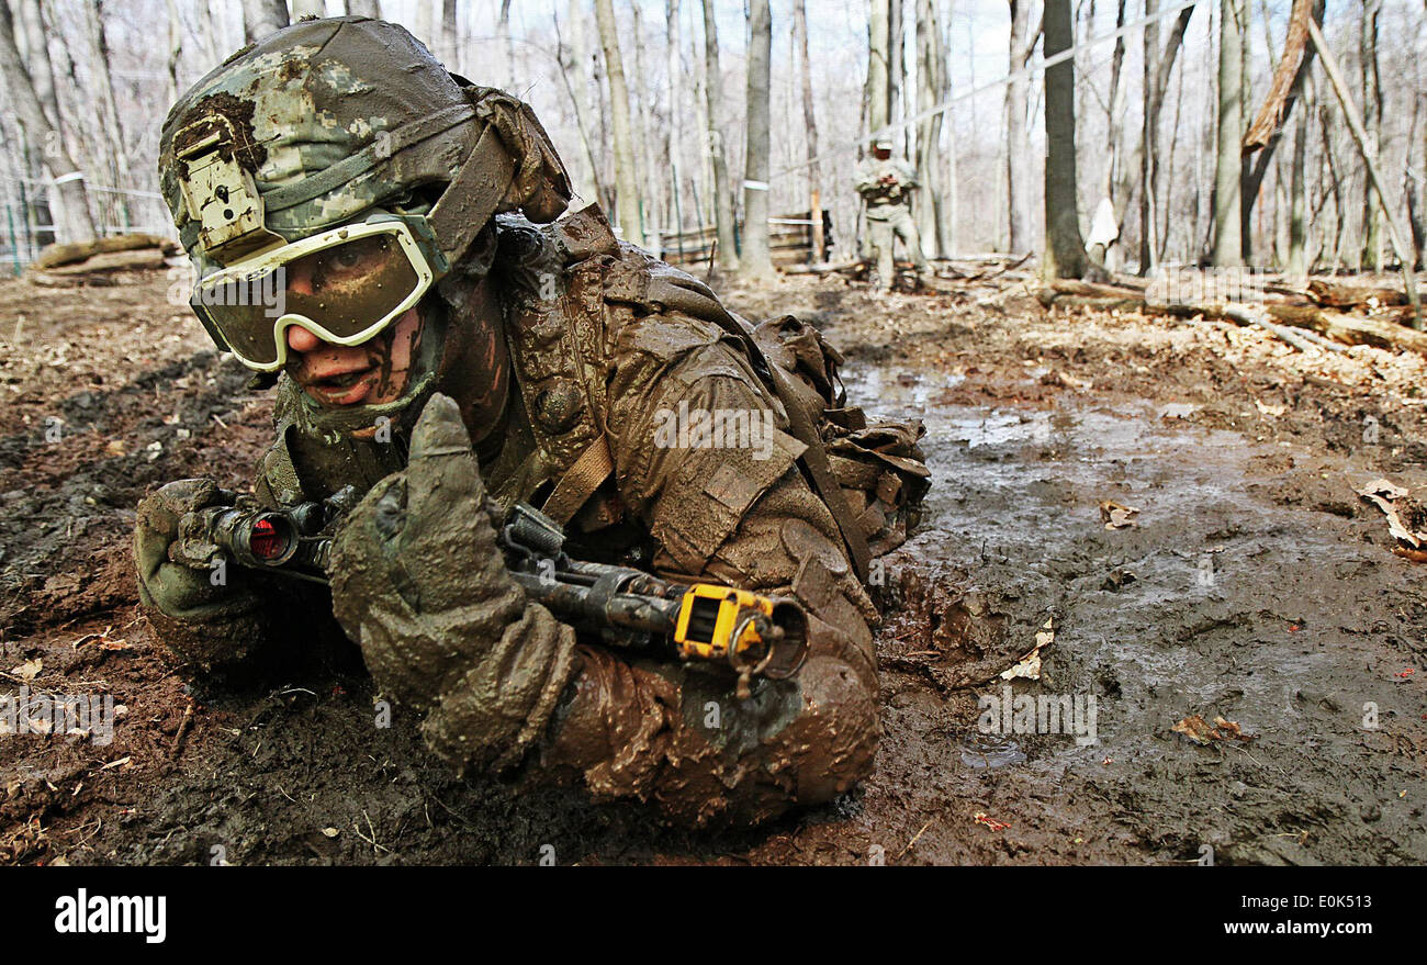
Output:
[[[524,410],[508,423],[532,437],[508,443],[492,465],[482,467],[502,508],[532,501],[586,534],[624,521],[611,480],[615,465],[604,428],[609,400],[601,377],[609,364],[606,311],[622,305],[714,323],[745,347],[753,371],[781,404],[788,433],[803,444],[798,464],[832,512],[860,577],[872,550],[882,552],[905,538],[929,475],[916,451],[920,423],[868,425],[860,410],[842,405],[841,357],[815,328],[785,315],[755,330],[704,283],[622,244],[598,206],[548,226],[518,216],[499,216],[497,226],[492,273],[518,390],[511,404]],[[284,405],[281,393],[301,390],[283,383],[278,438],[263,461],[260,498],[264,485],[267,500],[278,504],[323,498],[338,488],[331,485],[334,471],[364,490],[402,467],[404,445],[307,438],[291,417],[284,418],[295,407]],[[323,471],[304,471],[314,458]]]

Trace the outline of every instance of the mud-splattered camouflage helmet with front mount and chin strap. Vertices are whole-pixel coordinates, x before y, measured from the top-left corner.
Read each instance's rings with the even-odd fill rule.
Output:
[[[228,57],[170,110],[158,173],[200,278],[395,213],[418,228],[411,237],[444,278],[445,301],[458,298],[452,283],[489,267],[495,214],[552,221],[571,196],[527,104],[448,73],[405,29],[367,17],[303,20]],[[197,298],[194,307],[218,347],[238,351]],[[401,400],[344,414],[314,408],[313,423],[347,431],[417,408],[450,338],[437,327],[418,365],[425,375]],[[238,357],[253,368],[264,361]],[[271,384],[275,374],[260,378]]]

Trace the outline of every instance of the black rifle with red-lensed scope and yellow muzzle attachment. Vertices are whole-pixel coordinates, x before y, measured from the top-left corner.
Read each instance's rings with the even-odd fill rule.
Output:
[[[186,548],[218,547],[241,567],[327,585],[331,528],[355,501],[347,487],[323,502],[283,510],[200,510],[184,517],[170,557],[207,568],[213,560]],[[738,675],[739,699],[748,698],[751,678],[786,679],[808,655],[808,614],[796,600],[575,560],[559,524],[525,502],[497,528],[497,542],[515,582],[562,622],[611,645],[726,665]]]

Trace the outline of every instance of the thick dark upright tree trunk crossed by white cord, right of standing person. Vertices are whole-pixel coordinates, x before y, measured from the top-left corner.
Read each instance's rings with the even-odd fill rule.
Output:
[[[1045,56],[1055,57],[1075,43],[1070,0],[1046,0]],[[1075,60],[1046,70],[1046,278],[1085,274],[1085,238],[1076,197]]]

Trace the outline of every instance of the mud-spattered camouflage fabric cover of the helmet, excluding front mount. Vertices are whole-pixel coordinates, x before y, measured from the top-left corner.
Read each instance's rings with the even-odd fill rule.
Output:
[[[442,196],[431,211],[455,261],[497,211],[549,221],[569,198],[528,106],[458,83],[405,29],[381,20],[298,21],[237,51],[174,104],[160,136],[160,184],[200,260],[211,260],[211,238],[186,181],[194,150],[215,133],[217,154],[251,177],[255,224],[274,243],[455,183],[461,197]]]

